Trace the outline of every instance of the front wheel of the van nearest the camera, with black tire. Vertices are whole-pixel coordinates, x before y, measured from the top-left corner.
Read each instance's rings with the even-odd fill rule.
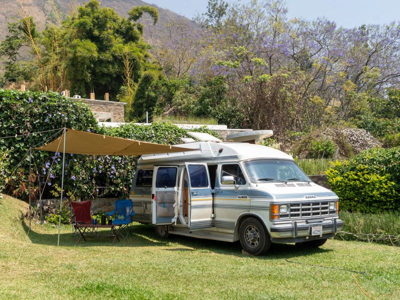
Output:
[[[271,247],[268,232],[254,217],[248,217],[240,224],[239,236],[243,249],[252,255],[265,254]]]

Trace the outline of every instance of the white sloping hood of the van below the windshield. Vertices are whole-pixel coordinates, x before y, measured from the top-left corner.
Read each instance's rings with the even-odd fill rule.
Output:
[[[337,195],[323,186],[310,182],[304,184],[301,181],[288,182],[287,184],[281,182],[265,182],[257,183],[257,188],[266,191],[272,198],[275,199],[315,199],[318,198],[337,198]]]

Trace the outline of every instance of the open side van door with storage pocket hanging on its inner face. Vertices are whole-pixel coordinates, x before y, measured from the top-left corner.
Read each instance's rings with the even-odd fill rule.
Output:
[[[154,166],[151,187],[151,223],[169,225],[177,217],[177,166]]]

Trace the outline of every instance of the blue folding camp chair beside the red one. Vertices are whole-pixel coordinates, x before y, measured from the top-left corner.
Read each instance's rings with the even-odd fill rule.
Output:
[[[112,224],[120,225],[118,233],[123,238],[127,238],[129,235],[129,225],[132,223],[132,216],[135,214],[133,211],[133,202],[129,199],[116,200],[115,209],[104,214],[107,216],[115,214]],[[125,231],[125,234],[122,231]]]

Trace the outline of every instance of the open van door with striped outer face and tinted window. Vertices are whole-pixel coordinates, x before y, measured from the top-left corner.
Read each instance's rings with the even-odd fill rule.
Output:
[[[189,230],[210,228],[212,194],[207,164],[185,164],[189,178]]]

